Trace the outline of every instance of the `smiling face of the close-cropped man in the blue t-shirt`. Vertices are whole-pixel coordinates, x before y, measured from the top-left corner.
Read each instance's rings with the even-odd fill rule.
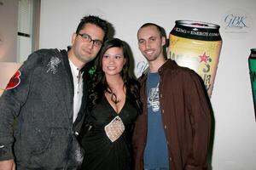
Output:
[[[145,26],[137,32],[138,48],[144,57],[150,62],[163,55],[165,37],[160,36],[160,31],[155,26]]]

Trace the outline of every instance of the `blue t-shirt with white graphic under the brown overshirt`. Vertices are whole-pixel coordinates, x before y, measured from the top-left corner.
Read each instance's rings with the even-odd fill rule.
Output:
[[[168,170],[166,135],[160,112],[159,82],[158,72],[148,73],[148,133],[144,151],[144,168]]]

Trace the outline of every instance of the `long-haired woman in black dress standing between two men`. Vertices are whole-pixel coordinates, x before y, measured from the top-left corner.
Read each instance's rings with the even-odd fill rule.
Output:
[[[118,38],[103,44],[81,139],[84,170],[130,170],[131,133],[142,110],[139,83],[129,73],[127,46]]]

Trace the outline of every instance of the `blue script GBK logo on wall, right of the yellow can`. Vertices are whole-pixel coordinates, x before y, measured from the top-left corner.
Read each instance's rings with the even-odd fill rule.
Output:
[[[224,22],[227,24],[225,29],[229,27],[242,29],[243,27],[247,27],[246,21],[247,21],[247,16],[238,16],[236,14],[228,14],[224,19]]]

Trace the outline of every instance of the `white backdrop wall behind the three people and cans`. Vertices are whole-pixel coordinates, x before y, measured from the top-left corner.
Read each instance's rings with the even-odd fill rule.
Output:
[[[223,46],[211,98],[215,116],[212,169],[256,168],[256,122],[247,64],[250,48],[256,48],[255,0],[44,0],[41,5],[40,48],[66,48],[84,14],[100,15],[113,24],[115,37],[130,44],[137,76],[145,63],[137,48],[137,30],[143,23],[159,24],[167,35],[175,20],[218,24]],[[228,26],[224,20],[228,15],[243,18]]]

